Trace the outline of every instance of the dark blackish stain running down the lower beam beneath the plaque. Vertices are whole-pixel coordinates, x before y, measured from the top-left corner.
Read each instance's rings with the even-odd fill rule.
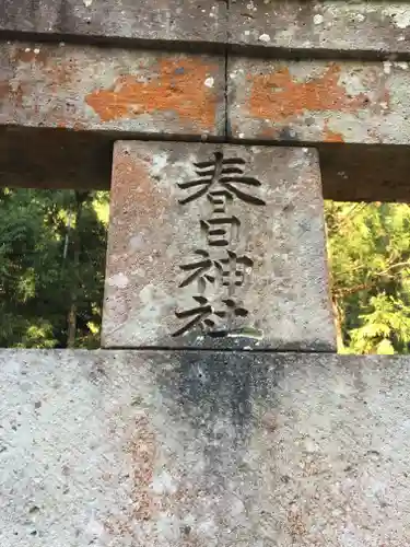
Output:
[[[203,440],[203,477],[212,476],[226,488],[226,454],[233,467],[246,467],[244,456],[259,419],[255,405],[276,412],[283,361],[272,358],[267,365],[257,353],[235,351],[181,351],[174,359],[177,364],[159,372],[157,383],[164,397],[174,401],[175,419],[180,420],[183,414],[197,431],[196,438]]]

